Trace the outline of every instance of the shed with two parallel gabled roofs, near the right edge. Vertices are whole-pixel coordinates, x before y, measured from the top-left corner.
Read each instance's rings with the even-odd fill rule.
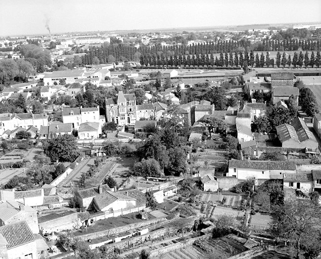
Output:
[[[302,118],[296,117],[292,125],[283,123],[276,127],[277,137],[284,148],[318,150],[318,142]]]

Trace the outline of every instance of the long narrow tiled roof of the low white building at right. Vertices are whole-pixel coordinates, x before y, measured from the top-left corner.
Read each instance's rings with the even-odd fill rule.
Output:
[[[268,170],[295,170],[295,162],[288,161],[259,161],[259,160],[229,160],[230,168],[253,168]]]

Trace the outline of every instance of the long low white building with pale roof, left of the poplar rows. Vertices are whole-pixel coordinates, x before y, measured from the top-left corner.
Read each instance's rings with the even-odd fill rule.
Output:
[[[65,83],[74,83],[79,78],[84,78],[84,70],[53,71],[50,74],[45,74],[44,83],[45,85],[53,85],[54,82],[59,83],[61,79],[64,79]]]

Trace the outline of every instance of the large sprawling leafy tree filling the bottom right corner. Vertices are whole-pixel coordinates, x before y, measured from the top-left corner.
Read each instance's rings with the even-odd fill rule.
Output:
[[[271,232],[287,240],[289,254],[296,259],[316,257],[321,249],[320,234],[315,228],[320,217],[319,207],[307,200],[292,199],[273,206],[273,212]]]

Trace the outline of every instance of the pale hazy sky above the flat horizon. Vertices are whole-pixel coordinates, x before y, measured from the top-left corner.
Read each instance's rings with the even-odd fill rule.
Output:
[[[0,0],[0,35],[321,22],[320,0]]]

